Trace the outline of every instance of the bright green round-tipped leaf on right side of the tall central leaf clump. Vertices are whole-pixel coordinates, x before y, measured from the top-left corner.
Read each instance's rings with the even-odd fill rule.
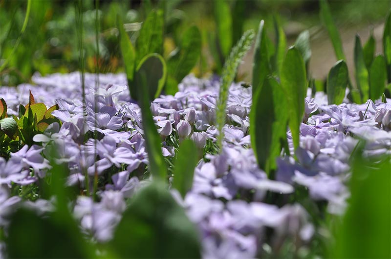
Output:
[[[305,78],[303,57],[296,47],[290,47],[282,63],[281,85],[288,102],[289,128],[295,149],[300,143],[300,123],[304,115]]]

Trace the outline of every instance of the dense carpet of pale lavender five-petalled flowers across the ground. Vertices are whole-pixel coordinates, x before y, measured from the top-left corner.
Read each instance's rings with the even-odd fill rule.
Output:
[[[15,186],[36,185],[52,159],[69,168],[69,186],[92,188],[94,178],[100,179],[100,201],[79,196],[72,208],[86,235],[106,242],[126,200],[150,180],[140,108],[130,99],[122,74],[99,75],[99,85],[96,75],[86,74],[85,105],[79,73],[35,75],[32,80],[36,85],[0,88],[9,116],[18,116],[19,104],[28,102],[31,90],[46,105],[58,104],[52,115],[61,123],[35,135],[34,145],[22,146],[9,159],[0,158],[0,227],[6,228],[17,206],[42,213],[52,209],[52,199],[26,201],[12,191]],[[219,80],[190,75],[178,88],[174,96],[153,100],[151,111],[168,162],[183,139],[192,139],[203,150],[192,189],[184,199],[174,189],[172,195],[198,226],[205,258],[253,258],[281,249],[287,238],[305,247],[320,230],[301,200],[292,202],[291,197],[304,191],[315,206],[321,202],[327,213],[343,214],[349,161],[360,139],[365,140],[366,158],[379,161],[391,155],[390,100],[327,105],[324,93],[312,98],[308,91],[300,146],[294,150],[287,129],[288,147],[277,159],[271,180],[259,169],[251,148],[251,87],[230,87],[221,150],[215,144]],[[270,196],[278,197],[278,204],[268,203]]]

